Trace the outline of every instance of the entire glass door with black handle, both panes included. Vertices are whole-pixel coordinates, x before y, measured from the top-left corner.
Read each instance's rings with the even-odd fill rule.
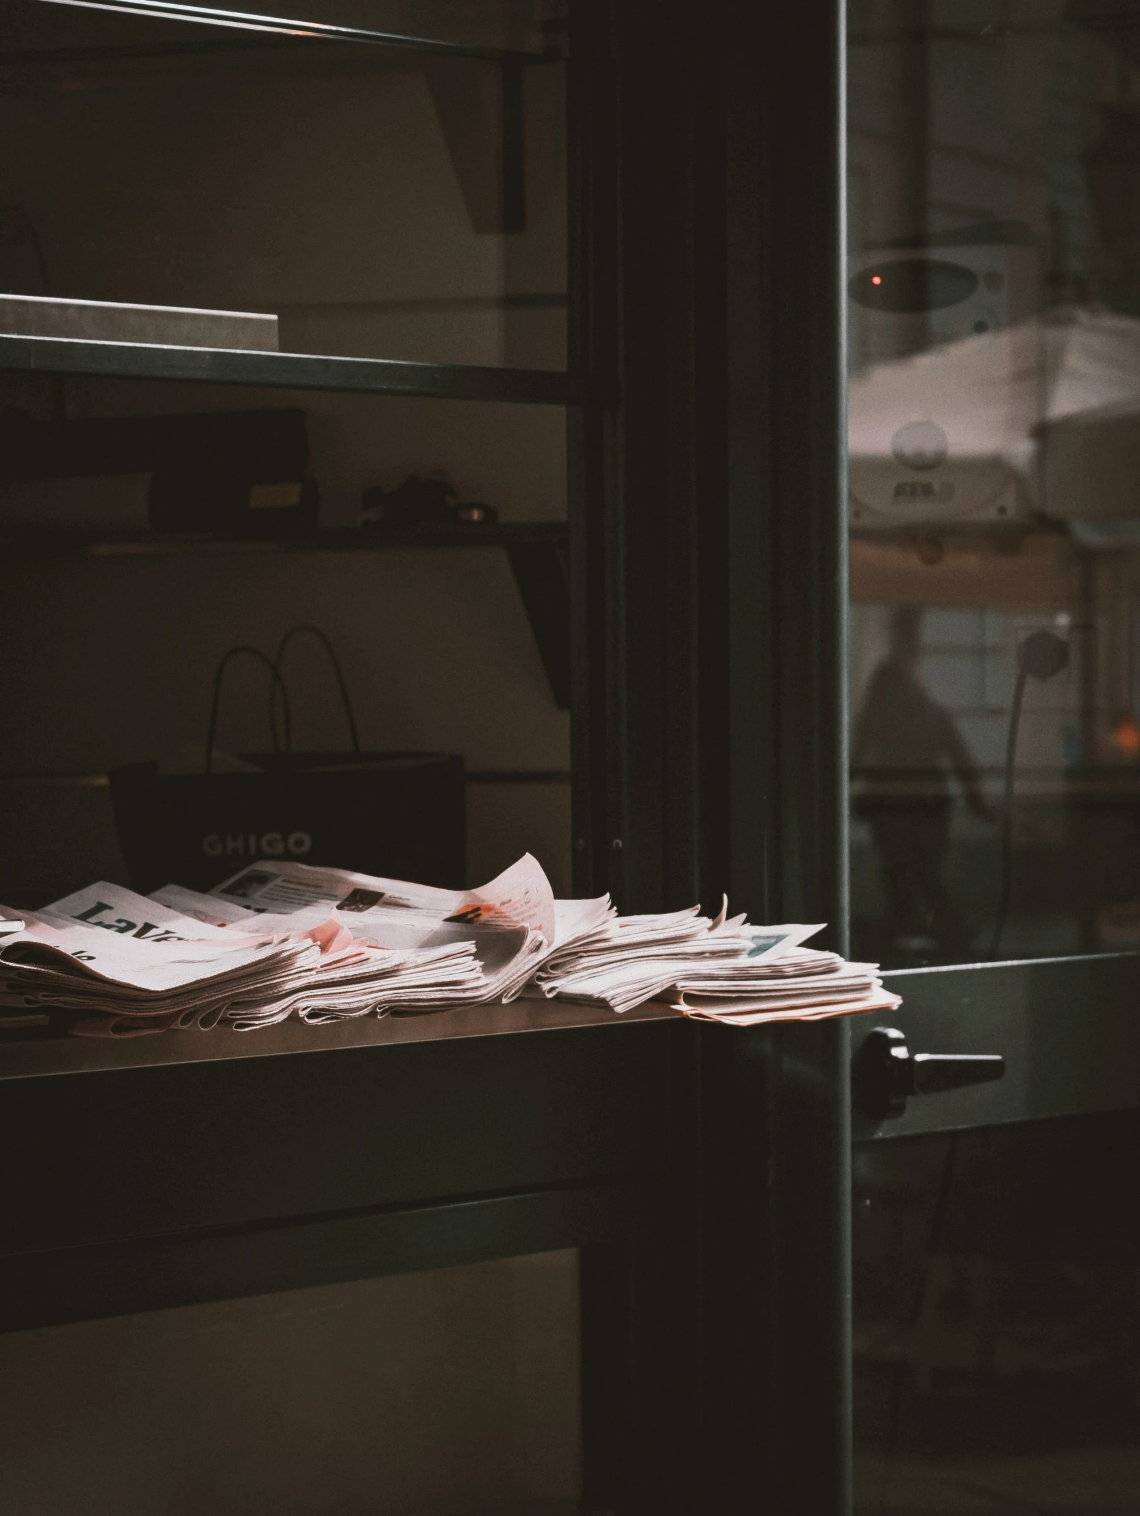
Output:
[[[1140,5],[847,23],[857,1510],[1140,1511]]]

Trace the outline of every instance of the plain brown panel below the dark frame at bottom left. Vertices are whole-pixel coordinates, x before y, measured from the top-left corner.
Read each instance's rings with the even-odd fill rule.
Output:
[[[578,1257],[0,1337],[6,1516],[561,1516]]]

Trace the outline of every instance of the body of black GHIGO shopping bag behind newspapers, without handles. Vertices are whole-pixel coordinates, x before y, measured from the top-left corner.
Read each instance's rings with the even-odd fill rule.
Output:
[[[464,761],[453,753],[243,755],[250,773],[111,773],[130,882],[209,890],[258,858],[461,888]]]

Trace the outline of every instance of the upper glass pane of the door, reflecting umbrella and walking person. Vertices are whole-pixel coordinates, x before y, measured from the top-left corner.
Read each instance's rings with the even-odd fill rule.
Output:
[[[852,913],[1140,944],[1140,5],[849,8]]]

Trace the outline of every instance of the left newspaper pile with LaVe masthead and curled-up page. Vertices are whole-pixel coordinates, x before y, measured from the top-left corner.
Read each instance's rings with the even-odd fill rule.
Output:
[[[555,910],[529,855],[464,891],[285,861],[211,894],[103,882],[5,923],[18,929],[0,937],[0,1008],[68,1013],[71,1031],[123,1037],[511,1001],[559,923],[582,931],[609,911],[605,899]]]

